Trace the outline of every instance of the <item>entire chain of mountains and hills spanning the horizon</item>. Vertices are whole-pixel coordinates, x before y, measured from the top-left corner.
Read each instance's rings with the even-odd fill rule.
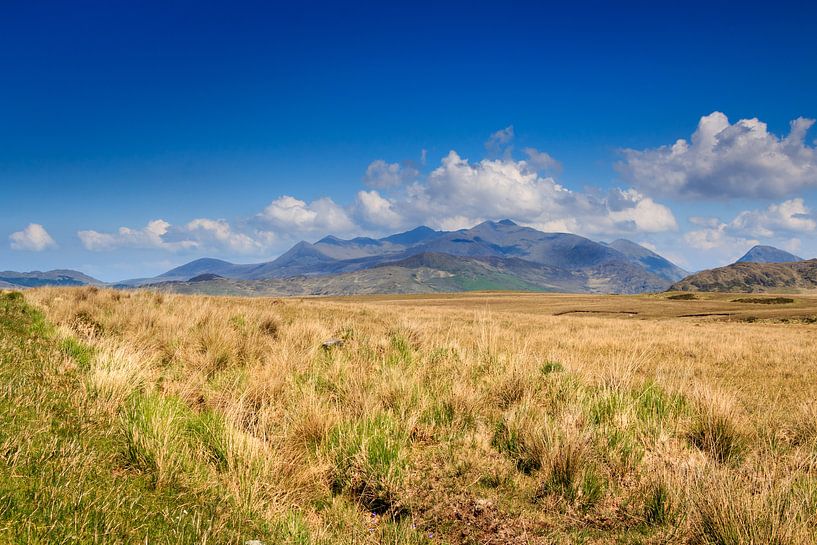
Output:
[[[778,285],[810,289],[813,263],[771,246],[755,246],[728,267],[688,276],[671,261],[629,240],[596,242],[501,220],[457,231],[421,226],[383,238],[330,235],[314,243],[299,242],[272,261],[236,264],[202,258],[152,278],[108,285],[226,295],[757,291]],[[782,266],[764,267],[776,264]],[[104,283],[72,270],[0,272],[0,288],[44,285]]]

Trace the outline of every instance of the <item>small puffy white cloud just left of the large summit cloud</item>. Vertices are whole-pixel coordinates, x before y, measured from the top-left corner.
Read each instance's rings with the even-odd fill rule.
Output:
[[[291,235],[338,234],[356,228],[348,212],[328,197],[307,204],[284,195],[272,201],[256,218],[273,231]]]

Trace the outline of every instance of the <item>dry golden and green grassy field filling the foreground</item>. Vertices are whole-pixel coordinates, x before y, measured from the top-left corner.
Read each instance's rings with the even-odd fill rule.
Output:
[[[689,297],[2,295],[0,542],[817,543],[817,297]]]

